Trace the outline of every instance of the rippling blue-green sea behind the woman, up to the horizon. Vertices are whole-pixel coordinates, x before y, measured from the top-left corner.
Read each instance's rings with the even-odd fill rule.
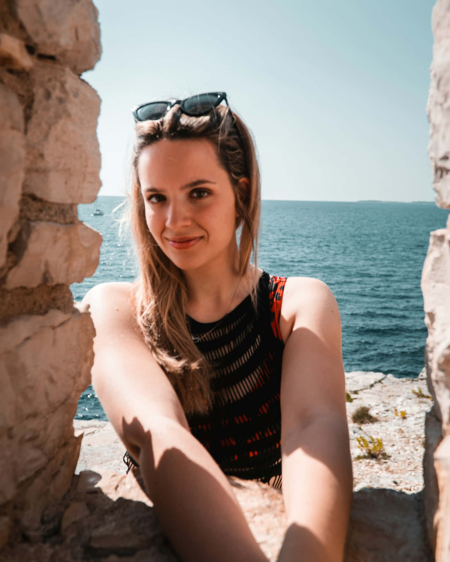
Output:
[[[95,274],[71,285],[81,301],[98,283],[133,281],[137,265],[126,235],[119,236],[123,197],[79,205],[79,219],[102,234]],[[345,371],[416,377],[424,368],[427,330],[420,278],[431,230],[448,211],[434,203],[380,201],[263,201],[257,261],[283,277],[327,283],[339,305]],[[106,415],[92,386],[75,419]]]

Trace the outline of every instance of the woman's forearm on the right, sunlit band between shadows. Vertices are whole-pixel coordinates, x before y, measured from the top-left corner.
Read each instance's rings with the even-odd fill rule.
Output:
[[[282,443],[288,529],[279,562],[340,562],[352,502],[348,430],[319,418]]]

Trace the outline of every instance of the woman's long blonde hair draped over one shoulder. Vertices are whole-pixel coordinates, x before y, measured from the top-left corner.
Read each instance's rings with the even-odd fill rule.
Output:
[[[186,321],[187,288],[181,269],[165,255],[149,231],[137,173],[142,149],[160,139],[208,139],[217,147],[219,163],[235,192],[236,230],[241,229],[239,273],[256,264],[260,215],[260,180],[255,146],[249,129],[230,108],[218,106],[208,115],[191,117],[176,105],[159,120],[136,123],[128,217],[136,244],[140,273],[133,284],[138,327],[155,360],[167,374],[186,414],[205,413],[212,404],[211,367],[192,341]],[[239,180],[248,178],[244,189]],[[254,276],[253,276],[254,277]],[[250,281],[255,303],[256,280]]]

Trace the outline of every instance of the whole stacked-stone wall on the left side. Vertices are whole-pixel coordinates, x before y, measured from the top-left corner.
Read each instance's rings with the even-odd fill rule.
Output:
[[[100,58],[97,15],[91,0],[0,0],[0,549],[52,532],[79,455],[95,332],[69,285],[101,244],[77,213],[100,188],[100,98],[80,78]]]

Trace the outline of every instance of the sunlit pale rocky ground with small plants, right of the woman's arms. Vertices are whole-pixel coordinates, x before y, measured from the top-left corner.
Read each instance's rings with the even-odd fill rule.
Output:
[[[424,486],[425,413],[433,402],[430,398],[418,397],[413,391],[420,392],[420,389],[422,395],[429,396],[425,373],[422,371],[418,378],[412,379],[380,373],[348,373],[346,387],[353,400],[347,403],[347,412],[355,490],[366,486],[406,492],[421,490]],[[361,406],[369,408],[375,422],[353,422],[352,414]],[[364,455],[358,437],[364,437],[368,442],[370,437],[382,439],[388,458],[355,460],[358,455]]]

